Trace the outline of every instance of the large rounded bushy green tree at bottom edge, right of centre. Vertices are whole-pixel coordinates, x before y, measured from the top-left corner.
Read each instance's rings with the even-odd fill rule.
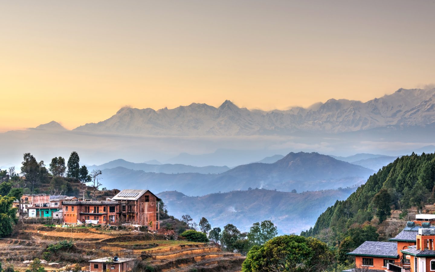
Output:
[[[328,245],[316,238],[283,235],[264,245],[254,245],[242,264],[242,272],[323,271],[333,259]]]

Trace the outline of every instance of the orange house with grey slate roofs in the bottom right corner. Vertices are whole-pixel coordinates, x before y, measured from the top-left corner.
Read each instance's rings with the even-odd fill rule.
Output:
[[[424,219],[424,220],[422,220]],[[416,215],[391,242],[366,241],[348,255],[355,256],[357,268],[391,272],[435,271],[435,227],[433,216]],[[417,225],[419,224],[419,225]],[[354,269],[345,270],[352,272]]]

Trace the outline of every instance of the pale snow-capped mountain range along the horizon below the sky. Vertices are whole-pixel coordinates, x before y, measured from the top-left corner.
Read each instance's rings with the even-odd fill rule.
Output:
[[[390,125],[424,126],[435,122],[435,88],[399,89],[365,103],[330,99],[309,108],[260,111],[231,101],[220,107],[193,103],[174,109],[123,107],[105,121],[76,131],[143,135],[287,135],[295,131],[340,133]]]

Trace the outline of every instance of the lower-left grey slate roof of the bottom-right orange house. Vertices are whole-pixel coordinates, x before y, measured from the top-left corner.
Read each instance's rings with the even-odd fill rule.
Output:
[[[358,246],[358,248],[348,254],[397,258],[397,243],[365,241],[362,245]]]

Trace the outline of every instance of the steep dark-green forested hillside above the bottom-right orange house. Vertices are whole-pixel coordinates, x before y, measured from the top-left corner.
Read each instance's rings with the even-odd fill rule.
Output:
[[[404,217],[408,208],[434,203],[434,177],[435,154],[397,158],[370,176],[348,199],[327,208],[314,228],[301,235],[321,237],[340,248],[376,240],[379,224],[391,215],[391,209],[401,210]]]

